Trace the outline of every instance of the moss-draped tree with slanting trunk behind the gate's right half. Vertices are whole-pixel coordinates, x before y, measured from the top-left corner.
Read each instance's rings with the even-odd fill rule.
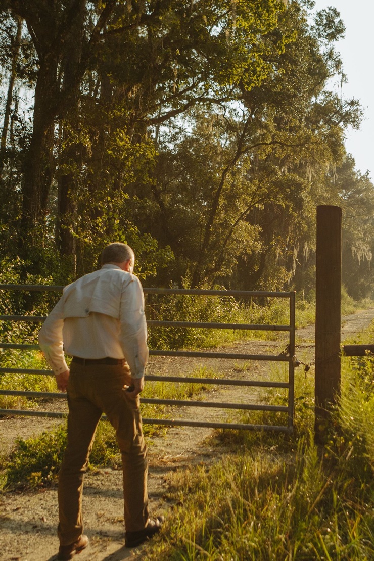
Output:
[[[143,223],[171,240],[173,280],[229,282],[236,271],[232,279],[245,288],[280,288],[311,245],[315,206],[335,196],[326,192],[326,169],[344,156],[344,127],[360,118],[355,100],[325,90],[341,70],[318,38],[338,39],[341,21],[331,10],[317,22],[311,30],[299,4],[290,4],[276,33],[294,38],[273,53],[274,72],[261,85],[238,81],[236,103],[222,100],[217,112],[206,102],[159,131],[154,182],[133,193],[144,199]]]

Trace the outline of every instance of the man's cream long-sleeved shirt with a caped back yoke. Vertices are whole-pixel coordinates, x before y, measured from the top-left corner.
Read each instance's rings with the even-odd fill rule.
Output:
[[[65,351],[81,358],[125,358],[132,377],[141,378],[146,341],[140,280],[112,264],[65,287],[39,332],[39,346],[56,375],[68,369]]]

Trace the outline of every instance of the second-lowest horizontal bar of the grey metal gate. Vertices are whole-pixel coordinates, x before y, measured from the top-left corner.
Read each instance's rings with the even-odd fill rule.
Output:
[[[65,398],[65,393],[52,392],[22,392],[20,390],[0,390],[0,396],[23,396],[23,397],[48,397],[48,398]],[[178,407],[210,407],[213,409],[235,409],[240,411],[279,411],[288,412],[288,407],[283,405],[257,405],[255,403],[219,403],[210,401],[186,401],[183,399],[158,399],[141,397],[140,403],[149,403],[156,405],[172,405]]]

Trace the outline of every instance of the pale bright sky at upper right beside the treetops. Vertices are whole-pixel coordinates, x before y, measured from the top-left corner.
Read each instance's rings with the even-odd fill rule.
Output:
[[[361,130],[348,130],[345,146],[356,169],[374,179],[374,2],[372,0],[315,0],[314,11],[334,6],[345,25],[345,38],[335,44],[343,61],[348,83],[339,88],[346,98],[355,98],[364,109]]]

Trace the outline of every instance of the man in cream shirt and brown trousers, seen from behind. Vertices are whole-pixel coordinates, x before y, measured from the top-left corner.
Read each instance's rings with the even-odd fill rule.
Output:
[[[148,360],[144,295],[133,275],[130,246],[110,243],[101,269],[63,290],[39,332],[39,344],[61,392],[67,391],[68,438],[58,481],[60,541],[65,561],[86,548],[83,534],[84,473],[104,412],[116,429],[122,454],[125,545],[135,547],[156,534],[163,517],[149,518],[147,459],[139,394]],[[64,350],[72,355],[70,370]]]

